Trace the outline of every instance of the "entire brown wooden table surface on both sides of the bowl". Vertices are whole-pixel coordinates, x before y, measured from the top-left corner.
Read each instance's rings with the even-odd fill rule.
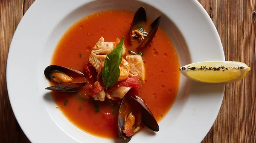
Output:
[[[0,143],[30,143],[9,102],[6,61],[15,29],[34,1],[0,0]],[[245,79],[226,85],[218,117],[202,143],[256,143],[255,0],[198,1],[218,30],[226,60],[251,67]]]

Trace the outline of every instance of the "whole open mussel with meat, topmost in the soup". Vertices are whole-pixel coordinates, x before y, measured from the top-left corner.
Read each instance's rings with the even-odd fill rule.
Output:
[[[129,31],[130,43],[132,44],[132,41],[134,38],[140,38],[140,44],[136,48],[137,50],[145,48],[148,44],[150,44],[155,34],[157,33],[160,20],[161,20],[161,16],[157,17],[157,19],[155,19],[154,22],[151,23],[150,25],[151,29],[149,33],[146,33],[143,28],[142,30],[140,28],[133,30],[134,25],[137,25],[140,22],[147,21],[145,9],[143,7],[138,8],[138,10],[134,14],[133,21],[131,22],[131,27]]]

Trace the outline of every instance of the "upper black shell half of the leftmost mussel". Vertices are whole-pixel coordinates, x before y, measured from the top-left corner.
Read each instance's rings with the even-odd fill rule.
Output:
[[[62,67],[62,66],[59,66],[59,65],[49,65],[48,67],[46,67],[45,70],[44,70],[44,76],[48,80],[52,81],[51,74],[52,74],[52,71],[55,71],[55,70],[59,70],[59,71],[64,72],[66,74],[68,74],[68,73],[72,73],[72,74],[75,73],[76,75],[84,76],[84,74],[81,73],[78,70],[73,70],[71,68]]]

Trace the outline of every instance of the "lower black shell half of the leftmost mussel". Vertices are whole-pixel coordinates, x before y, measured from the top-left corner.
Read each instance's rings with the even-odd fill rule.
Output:
[[[67,84],[58,84],[45,88],[46,90],[53,90],[59,92],[77,92],[81,90],[87,82],[74,82]]]

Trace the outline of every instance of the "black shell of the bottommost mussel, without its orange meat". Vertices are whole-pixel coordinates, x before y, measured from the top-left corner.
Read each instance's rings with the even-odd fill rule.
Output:
[[[122,121],[122,118],[120,117],[120,110],[122,109],[122,104],[124,100],[127,100],[129,104],[135,105],[135,107],[138,107],[138,110],[141,112],[141,118],[142,118],[142,123],[147,126],[149,129],[151,129],[154,132],[159,131],[159,126],[154,118],[152,112],[148,108],[148,106],[145,104],[145,101],[138,97],[137,95],[125,95],[124,98],[122,98],[122,101],[120,103],[120,108],[119,108],[119,113],[118,113],[118,121],[117,121],[117,126],[118,126],[118,134],[122,142],[128,143],[131,140],[131,137],[127,137],[123,132],[123,126],[124,126],[124,121]]]

